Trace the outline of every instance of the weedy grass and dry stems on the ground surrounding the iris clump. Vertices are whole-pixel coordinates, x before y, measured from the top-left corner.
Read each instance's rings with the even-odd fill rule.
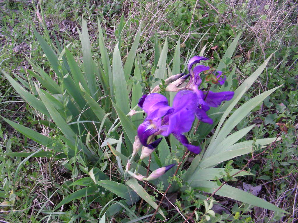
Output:
[[[141,65],[141,78],[131,78],[127,84],[128,86],[140,84],[144,87],[143,91],[148,92],[150,76],[156,70],[158,61],[156,52],[162,52],[166,39],[168,41],[166,63],[169,67],[173,66],[174,62],[171,58],[174,57],[176,43],[180,40],[180,64],[183,71],[186,68],[185,59],[188,58],[190,52],[195,51],[195,54],[199,54],[201,49],[205,49],[204,55],[214,59],[214,64],[218,64],[232,40],[242,32],[232,59],[226,62],[228,70],[235,69],[235,78],[232,81],[234,90],[257,70],[270,54],[273,56],[264,72],[243,95],[236,107],[268,89],[283,86],[256,106],[233,129],[232,133],[255,124],[256,126],[240,139],[240,142],[277,136],[282,137],[282,140],[253,160],[251,160],[253,154],[238,156],[233,159],[232,164],[225,162],[219,167],[232,165],[235,169],[242,169],[250,160],[247,168],[254,175],[238,177],[237,181],[231,181],[229,185],[238,188],[246,187],[251,193],[283,208],[288,213],[273,212],[215,195],[214,199],[218,203],[214,203],[212,210],[216,217],[211,216],[212,219],[207,221],[205,213],[207,207],[203,203],[203,196],[208,194],[198,190],[168,193],[166,196],[168,200],[162,203],[162,210],[167,213],[169,218],[167,222],[183,222],[183,216],[191,216],[193,213],[194,204],[199,208],[195,215],[191,216],[189,222],[295,222],[298,219],[297,7],[296,1],[71,2],[51,0],[38,2],[2,0],[0,1],[0,66],[21,85],[27,87],[24,81],[28,81],[33,86],[33,82],[29,81],[31,80],[42,89],[46,89],[30,75],[28,70],[32,69],[32,65],[27,58],[49,73],[55,81],[58,81],[57,72],[41,49],[33,28],[44,36],[46,43],[50,44],[50,40],[53,41],[54,48],[58,48],[59,44],[62,48],[68,45],[75,60],[82,62],[84,53],[78,30],[82,30],[83,17],[87,22],[92,58],[104,68],[100,59],[102,56],[97,18],[103,30],[103,39],[109,58],[113,57],[114,47],[122,33],[120,56],[123,63],[128,58],[137,29],[142,24],[142,34],[136,51]],[[39,15],[44,16],[44,21],[39,20]],[[123,24],[123,30],[119,24]],[[43,26],[48,30],[48,36]],[[103,88],[104,86],[101,86],[102,92],[104,92]],[[38,92],[34,93],[38,95]],[[103,94],[100,97],[107,105],[107,95]],[[29,106],[4,76],[1,76],[0,98],[2,117],[58,142],[63,142],[60,138],[60,130],[52,120],[45,118],[34,107]],[[116,117],[115,112],[111,115],[113,118]],[[46,120],[48,123],[41,122],[41,120]],[[93,170],[95,176],[102,171],[108,176],[108,180],[122,183],[117,165],[115,165],[117,160],[108,150],[108,146],[94,147],[98,151],[102,149],[106,152],[98,152],[102,156],[95,163],[85,163],[79,158],[59,158],[59,154],[55,154],[55,157],[52,154],[47,157],[15,156],[15,154],[12,155],[13,152],[32,152],[47,147],[16,131],[3,119],[0,123],[1,221],[150,221],[149,216],[138,219],[138,217],[154,212],[145,201],[141,204],[137,202],[134,206],[124,205],[122,210],[115,215],[108,216],[106,219],[102,218],[106,209],[112,205],[111,201],[113,199],[119,201],[119,198],[109,190],[102,189],[97,196],[88,196],[86,193],[78,197],[68,197],[84,188],[85,184],[71,185],[71,183],[88,177],[92,167],[98,170],[98,172]],[[104,134],[109,130],[105,128]],[[117,128],[117,131],[120,134],[121,127]],[[87,133],[82,135],[87,137]],[[193,136],[193,138],[199,138],[199,136]],[[197,140],[200,141],[201,138]],[[86,139],[85,142],[87,142]],[[187,169],[192,161],[193,157],[189,156],[184,169]],[[246,184],[243,185],[243,183]],[[147,191],[158,203],[166,187],[162,183],[154,186],[155,189],[148,186]],[[63,199],[68,199],[69,202],[65,202],[55,210],[55,206]],[[106,204],[108,205],[105,206]]]

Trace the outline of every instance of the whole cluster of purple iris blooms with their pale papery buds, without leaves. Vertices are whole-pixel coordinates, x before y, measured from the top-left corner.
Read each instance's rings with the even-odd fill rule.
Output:
[[[195,117],[204,123],[213,124],[213,120],[206,112],[210,107],[218,107],[223,101],[231,100],[234,96],[234,92],[231,91],[212,92],[209,91],[209,89],[208,91],[199,89],[202,83],[200,74],[203,71],[207,74],[206,81],[211,80],[212,83],[220,85],[223,85],[226,81],[226,76],[223,77],[221,71],[215,71],[213,74],[212,71],[215,69],[200,64],[201,61],[206,60],[207,58],[205,57],[194,56],[188,63],[189,74],[176,75],[175,79],[173,79],[172,76],[172,83],[168,85],[166,90],[178,91],[173,99],[173,107],[169,106],[167,98],[159,93],[143,95],[139,99],[138,106],[147,113],[144,122],[138,127],[138,135],[132,156],[133,158],[139,148],[143,146],[139,164],[159,145],[162,138],[151,142],[153,137],[157,135],[169,136],[173,134],[190,152],[195,154],[201,152],[201,148],[191,145],[183,133],[190,131]],[[198,65],[193,68],[195,64]],[[189,82],[181,87],[188,77],[190,77]],[[159,90],[158,87],[154,89],[154,92]],[[130,165],[130,163],[131,160],[128,164]],[[136,168],[134,173],[130,171],[128,171],[128,173],[139,180],[152,180],[164,174],[164,172],[173,166],[174,164],[171,164],[167,167],[159,168],[152,172],[152,177],[150,177],[150,175],[148,178],[137,175],[138,168]],[[129,167],[127,169],[129,169]]]

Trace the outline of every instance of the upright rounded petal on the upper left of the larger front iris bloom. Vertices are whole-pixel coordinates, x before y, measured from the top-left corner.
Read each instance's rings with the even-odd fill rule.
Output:
[[[167,98],[158,93],[148,95],[142,103],[142,109],[148,114],[146,120],[155,117],[160,118],[174,111],[174,109],[168,105]]]

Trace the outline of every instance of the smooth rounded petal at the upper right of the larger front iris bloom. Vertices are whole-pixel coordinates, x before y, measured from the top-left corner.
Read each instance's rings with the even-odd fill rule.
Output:
[[[196,100],[197,95],[190,90],[179,91],[173,100],[174,112],[178,112],[181,109],[193,110],[198,106],[198,101]]]

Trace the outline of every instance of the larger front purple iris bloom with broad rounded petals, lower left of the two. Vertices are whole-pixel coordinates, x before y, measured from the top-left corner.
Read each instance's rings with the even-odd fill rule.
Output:
[[[172,133],[191,152],[201,152],[199,146],[190,145],[182,134],[190,131],[195,120],[195,109],[198,107],[195,92],[179,91],[173,100],[173,108],[168,105],[167,98],[158,93],[142,96],[138,105],[147,113],[145,121],[138,127],[142,145],[150,148],[147,141],[151,135],[168,136]]]

